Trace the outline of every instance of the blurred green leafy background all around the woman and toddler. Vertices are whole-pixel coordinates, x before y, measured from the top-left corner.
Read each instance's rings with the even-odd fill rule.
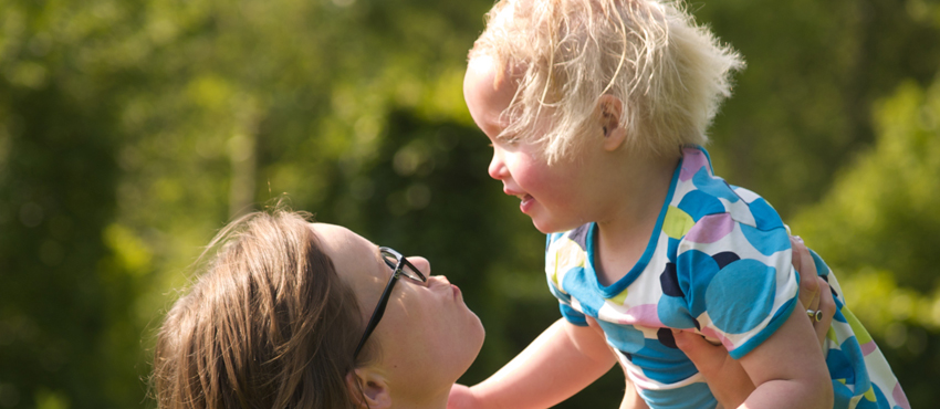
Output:
[[[154,407],[155,329],[227,220],[294,209],[427,256],[492,374],[557,319],[544,237],[463,105],[491,0],[0,0],[0,408]],[[717,171],[837,272],[940,399],[940,1],[714,0],[748,69]],[[612,370],[563,408],[615,408]]]

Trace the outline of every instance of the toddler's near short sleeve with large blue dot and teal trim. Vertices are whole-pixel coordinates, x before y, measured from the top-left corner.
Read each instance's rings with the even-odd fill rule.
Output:
[[[676,273],[690,315],[702,335],[719,339],[735,359],[787,319],[800,287],[783,223],[754,224],[730,213],[704,216],[677,249]]]

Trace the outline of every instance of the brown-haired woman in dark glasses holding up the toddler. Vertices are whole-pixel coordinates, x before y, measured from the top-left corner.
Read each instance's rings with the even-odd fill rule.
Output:
[[[424,258],[307,218],[252,213],[212,240],[158,334],[160,408],[447,407],[483,343],[459,289]],[[677,342],[725,407],[753,388],[723,349]]]

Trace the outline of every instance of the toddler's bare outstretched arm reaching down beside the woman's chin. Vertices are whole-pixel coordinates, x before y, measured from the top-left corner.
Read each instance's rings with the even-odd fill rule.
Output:
[[[617,361],[595,328],[558,319],[487,380],[455,386],[449,409],[549,408],[584,389]]]

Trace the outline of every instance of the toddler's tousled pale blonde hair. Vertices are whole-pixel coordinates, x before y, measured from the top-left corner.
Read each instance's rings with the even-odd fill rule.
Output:
[[[624,102],[627,148],[679,155],[702,145],[730,73],[744,65],[681,4],[648,0],[502,0],[469,57],[481,55],[494,61],[494,86],[505,72],[518,81],[500,136],[542,144],[550,162],[596,132],[604,94]],[[536,136],[540,117],[549,130]]]

